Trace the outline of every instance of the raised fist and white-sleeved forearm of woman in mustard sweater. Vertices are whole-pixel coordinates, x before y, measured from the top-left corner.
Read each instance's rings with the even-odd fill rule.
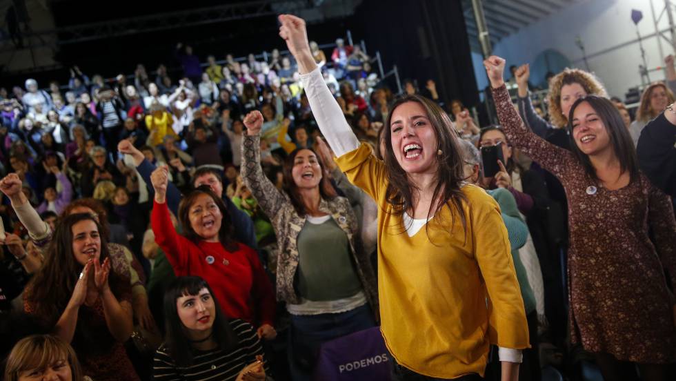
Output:
[[[281,14],[279,22],[279,36],[286,41],[286,46],[298,63],[301,81],[321,134],[338,156],[357,149],[359,139],[352,132],[338,102],[326,86],[315,59],[312,58],[305,21],[290,14]]]

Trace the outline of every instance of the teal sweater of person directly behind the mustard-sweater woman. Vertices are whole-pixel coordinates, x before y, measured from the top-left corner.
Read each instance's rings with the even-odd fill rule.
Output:
[[[486,190],[491,195],[497,204],[500,206],[502,212],[502,220],[507,226],[507,235],[509,236],[509,243],[512,246],[512,257],[514,259],[514,268],[517,271],[517,280],[519,281],[519,288],[521,289],[521,297],[524,298],[524,306],[526,307],[526,315],[535,311],[535,294],[528,283],[528,275],[526,274],[526,267],[521,262],[519,257],[519,248],[526,244],[528,240],[528,226],[521,215],[517,202],[512,193],[504,188],[497,188],[494,190]]]

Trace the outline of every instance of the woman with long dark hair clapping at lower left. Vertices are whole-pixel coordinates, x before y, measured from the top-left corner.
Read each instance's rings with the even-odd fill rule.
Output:
[[[133,330],[129,279],[111,271],[99,223],[88,213],[63,218],[45,257],[23,293],[26,313],[72,342],[96,380],[139,380],[123,346]]]

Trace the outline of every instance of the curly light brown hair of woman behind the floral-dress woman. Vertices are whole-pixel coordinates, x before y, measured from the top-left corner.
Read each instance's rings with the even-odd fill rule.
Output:
[[[579,84],[587,95],[598,95],[607,98],[608,94],[601,81],[590,72],[580,69],[565,68],[552,78],[547,101],[549,102],[549,119],[556,127],[565,127],[568,124],[568,115],[561,110],[561,88],[565,85]]]

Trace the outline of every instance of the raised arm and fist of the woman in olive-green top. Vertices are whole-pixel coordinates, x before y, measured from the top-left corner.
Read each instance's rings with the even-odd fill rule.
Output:
[[[257,199],[261,209],[275,219],[282,206],[288,201],[279,189],[272,184],[263,173],[261,167],[261,127],[263,115],[259,111],[252,111],[244,118],[246,135],[241,146],[241,177],[252,195]]]

